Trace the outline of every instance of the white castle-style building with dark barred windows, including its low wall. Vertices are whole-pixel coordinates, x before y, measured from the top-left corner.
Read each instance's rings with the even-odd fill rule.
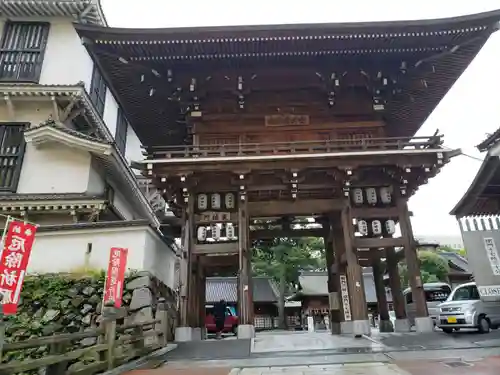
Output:
[[[0,213],[40,224],[30,271],[106,268],[121,246],[173,287],[172,241],[129,167],[140,141],[75,21],[106,25],[96,0],[0,1]]]

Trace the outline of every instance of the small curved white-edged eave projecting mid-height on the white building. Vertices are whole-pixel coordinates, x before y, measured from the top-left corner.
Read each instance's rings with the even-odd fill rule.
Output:
[[[113,152],[111,144],[84,139],[51,126],[30,129],[24,133],[24,139],[26,143],[31,143],[37,148],[59,143],[69,148],[87,151],[96,155],[111,155]]]

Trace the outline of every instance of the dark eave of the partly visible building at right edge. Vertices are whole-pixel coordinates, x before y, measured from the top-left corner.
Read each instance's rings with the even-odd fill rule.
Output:
[[[460,201],[450,211],[450,215],[463,217],[468,215],[488,214],[488,212],[476,211],[475,206],[484,189],[488,186],[488,183],[495,173],[497,173],[499,167],[499,157],[487,155],[483,160],[476,177],[472,181],[472,184],[469,186]]]

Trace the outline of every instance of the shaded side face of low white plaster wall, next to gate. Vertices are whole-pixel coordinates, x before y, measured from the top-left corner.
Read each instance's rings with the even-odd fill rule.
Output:
[[[152,230],[146,233],[144,268],[165,285],[175,286],[175,254]]]

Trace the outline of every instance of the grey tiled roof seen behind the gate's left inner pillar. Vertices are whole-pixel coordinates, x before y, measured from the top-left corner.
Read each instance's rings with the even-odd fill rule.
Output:
[[[253,277],[253,301],[260,303],[278,302],[278,292],[274,281],[268,277]],[[207,277],[206,297],[207,303],[238,301],[238,280],[236,277]]]

